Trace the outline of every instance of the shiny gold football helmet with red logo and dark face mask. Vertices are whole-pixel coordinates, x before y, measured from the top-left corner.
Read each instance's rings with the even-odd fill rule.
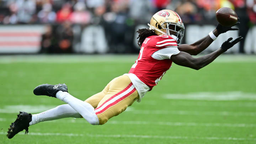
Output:
[[[156,12],[150,20],[149,29],[154,30],[158,35],[169,35],[171,36],[175,32],[177,43],[180,43],[184,36],[184,25],[180,16],[172,10],[161,10]],[[170,33],[170,31],[172,31]],[[173,37],[173,36],[172,36]]]

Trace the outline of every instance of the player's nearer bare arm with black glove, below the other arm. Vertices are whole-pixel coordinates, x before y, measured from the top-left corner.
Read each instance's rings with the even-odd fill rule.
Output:
[[[236,43],[240,42],[243,37],[238,37],[234,41],[231,41],[233,38],[226,40],[221,48],[215,50],[214,52],[204,55],[203,57],[193,58],[190,54],[186,52],[180,52],[176,55],[171,56],[172,62],[177,65],[186,66],[188,68],[199,70],[209,63],[213,62],[220,54],[224,53],[229,48],[233,47]]]

